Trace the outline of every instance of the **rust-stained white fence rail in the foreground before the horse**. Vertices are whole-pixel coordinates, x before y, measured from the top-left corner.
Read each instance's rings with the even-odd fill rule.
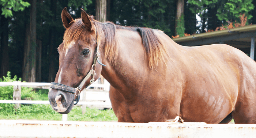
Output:
[[[0,120],[8,138],[255,138],[254,124]]]

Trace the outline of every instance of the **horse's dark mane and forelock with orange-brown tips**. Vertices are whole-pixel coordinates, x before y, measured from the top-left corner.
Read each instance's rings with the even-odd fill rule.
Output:
[[[142,37],[145,53],[148,58],[148,64],[151,69],[155,68],[158,65],[159,61],[165,62],[164,58],[167,56],[165,46],[155,35],[153,29],[140,27],[124,27],[120,25],[115,25],[112,22],[100,23],[96,20],[93,20],[93,23],[96,26],[97,30],[98,44],[101,44],[101,35],[103,33],[105,34],[104,54],[110,62],[115,62],[117,58],[116,45],[118,43],[118,40],[116,38],[116,29],[136,31],[140,34],[140,36]],[[63,41],[66,44],[64,45],[64,48],[66,49],[67,44],[69,44],[72,40],[76,41],[82,37],[82,39],[85,41],[87,36],[86,33],[87,32],[86,29],[84,29],[82,20],[74,20],[74,23],[71,25],[71,27],[69,27],[64,33]]]

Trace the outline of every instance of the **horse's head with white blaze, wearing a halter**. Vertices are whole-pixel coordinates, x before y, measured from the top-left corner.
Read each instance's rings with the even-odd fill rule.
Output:
[[[67,114],[80,92],[98,79],[103,64],[99,61],[101,51],[93,16],[81,9],[81,18],[74,20],[64,8],[61,18],[66,31],[58,48],[59,70],[48,98],[53,110]]]

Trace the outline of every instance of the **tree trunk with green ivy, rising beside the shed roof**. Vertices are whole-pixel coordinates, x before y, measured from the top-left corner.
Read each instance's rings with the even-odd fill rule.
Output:
[[[181,16],[184,15],[184,0],[177,0],[177,9],[176,9],[176,20],[175,20],[175,35],[177,35],[177,27],[179,23],[182,23],[184,27],[184,19],[181,21]]]

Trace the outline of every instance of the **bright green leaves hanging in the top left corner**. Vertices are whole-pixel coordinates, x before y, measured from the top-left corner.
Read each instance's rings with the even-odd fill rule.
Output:
[[[13,11],[23,11],[25,7],[29,7],[30,4],[28,2],[24,2],[22,0],[0,0],[2,15],[5,18],[12,17]]]

